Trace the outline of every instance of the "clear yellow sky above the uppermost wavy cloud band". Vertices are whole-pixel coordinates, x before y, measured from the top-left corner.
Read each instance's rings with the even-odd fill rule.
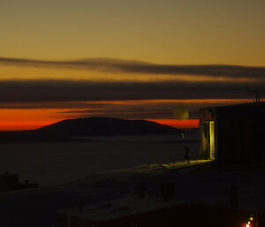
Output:
[[[265,64],[261,0],[13,0],[2,57],[114,57],[157,64]]]

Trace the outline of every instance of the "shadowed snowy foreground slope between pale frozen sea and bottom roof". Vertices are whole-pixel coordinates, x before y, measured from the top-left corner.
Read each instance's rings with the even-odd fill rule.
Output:
[[[228,207],[231,185],[237,183],[239,208],[265,212],[264,176],[264,170],[216,173],[210,169],[170,170],[163,165],[143,165],[98,173],[66,185],[0,194],[0,213],[3,227],[10,226],[13,219],[16,227],[52,227],[57,210],[132,196],[139,182],[146,182],[148,196],[160,202],[161,186],[170,182],[175,184],[175,204],[199,202]]]

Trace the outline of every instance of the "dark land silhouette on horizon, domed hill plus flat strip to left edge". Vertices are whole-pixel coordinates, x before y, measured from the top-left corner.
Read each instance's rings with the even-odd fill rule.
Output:
[[[35,130],[0,132],[0,142],[39,142],[77,140],[81,136],[177,134],[180,130],[146,120],[110,117],[66,119]]]

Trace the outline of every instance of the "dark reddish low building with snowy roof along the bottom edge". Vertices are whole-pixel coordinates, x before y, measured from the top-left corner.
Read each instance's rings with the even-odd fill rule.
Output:
[[[125,205],[126,204],[126,205]],[[57,212],[58,227],[249,227],[265,226],[265,214],[206,204],[160,203],[150,207],[106,203]],[[163,206],[161,206],[163,204]],[[166,206],[166,207],[164,207]],[[258,223],[258,225],[257,225]]]

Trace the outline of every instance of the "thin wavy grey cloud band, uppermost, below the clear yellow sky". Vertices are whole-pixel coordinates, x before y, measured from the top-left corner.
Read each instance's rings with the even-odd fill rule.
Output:
[[[90,70],[99,72],[124,72],[124,73],[148,73],[168,75],[190,75],[208,76],[223,79],[265,79],[265,67],[252,67],[240,65],[178,65],[178,64],[150,64],[133,60],[119,60],[112,58],[88,58],[71,61],[44,61],[34,59],[19,59],[0,57],[0,64],[48,67],[48,68],[69,68],[79,70]]]

